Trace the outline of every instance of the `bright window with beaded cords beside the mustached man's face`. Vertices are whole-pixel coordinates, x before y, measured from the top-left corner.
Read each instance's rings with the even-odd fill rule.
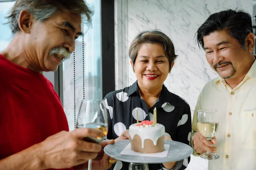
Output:
[[[102,99],[101,2],[87,4],[93,6],[92,27],[83,24],[84,37],[76,40],[75,52],[63,62],[63,106],[70,129],[82,99]]]

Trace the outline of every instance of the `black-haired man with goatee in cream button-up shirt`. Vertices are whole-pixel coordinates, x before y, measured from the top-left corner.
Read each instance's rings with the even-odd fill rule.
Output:
[[[210,15],[198,28],[197,41],[220,77],[209,81],[198,97],[192,123],[193,154],[220,155],[209,161],[208,170],[255,170],[256,61],[250,14],[227,10]],[[211,141],[198,132],[200,109],[218,111],[219,127]]]

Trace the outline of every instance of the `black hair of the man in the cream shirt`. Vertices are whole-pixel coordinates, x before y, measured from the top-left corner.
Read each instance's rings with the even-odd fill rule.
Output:
[[[214,31],[227,30],[231,37],[238,40],[243,48],[245,47],[245,38],[253,33],[253,25],[250,14],[243,10],[228,9],[225,11],[211,14],[207,20],[198,28],[195,33],[198,46],[204,48],[204,36]]]

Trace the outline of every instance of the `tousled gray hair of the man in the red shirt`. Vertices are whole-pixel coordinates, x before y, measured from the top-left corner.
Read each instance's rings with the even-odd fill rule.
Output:
[[[26,10],[32,14],[35,20],[43,22],[58,11],[67,11],[72,14],[81,15],[83,22],[88,26],[91,24],[93,11],[89,9],[84,0],[17,0],[9,16],[9,26],[12,33],[20,31],[20,11]]]

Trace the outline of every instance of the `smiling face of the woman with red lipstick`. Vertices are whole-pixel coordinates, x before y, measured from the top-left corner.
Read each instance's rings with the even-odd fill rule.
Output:
[[[132,67],[140,88],[155,89],[162,88],[170,66],[160,44],[143,43],[139,46],[138,55]]]

